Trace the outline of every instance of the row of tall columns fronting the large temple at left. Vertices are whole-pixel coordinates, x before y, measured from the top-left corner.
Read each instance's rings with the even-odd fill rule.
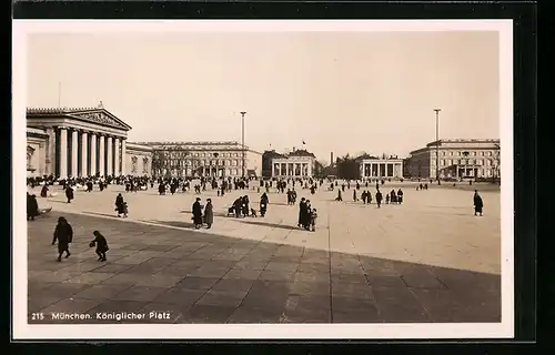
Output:
[[[56,172],[60,179],[125,174],[125,138],[58,126]]]

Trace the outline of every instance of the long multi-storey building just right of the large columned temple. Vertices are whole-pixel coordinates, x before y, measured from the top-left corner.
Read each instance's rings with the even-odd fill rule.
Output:
[[[131,143],[130,143],[131,144]],[[261,176],[262,154],[229,142],[141,142],[152,149],[154,176]],[[244,152],[244,168],[243,168]]]

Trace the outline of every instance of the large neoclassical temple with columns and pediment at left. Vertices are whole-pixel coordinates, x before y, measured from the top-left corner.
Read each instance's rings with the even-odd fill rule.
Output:
[[[27,109],[27,175],[127,174],[131,126],[98,108]]]

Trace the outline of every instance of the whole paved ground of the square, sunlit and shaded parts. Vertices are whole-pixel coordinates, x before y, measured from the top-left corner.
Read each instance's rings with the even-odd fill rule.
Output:
[[[404,189],[403,205],[382,209],[302,190],[319,210],[316,232],[297,229],[297,207],[276,193],[266,217],[235,220],[231,202],[241,193],[258,204],[258,193],[204,192],[215,222],[201,231],[191,229],[192,193],[123,193],[129,219],[113,212],[121,186],[79,191],[71,204],[39,199],[53,211],[28,222],[29,322],[501,322],[500,193],[484,192],[485,216],[475,217],[470,191]],[[60,215],[75,235],[58,263]],[[94,230],[109,241],[108,262],[89,247]],[[52,320],[61,314],[88,318]],[[102,318],[121,314],[144,318]]]

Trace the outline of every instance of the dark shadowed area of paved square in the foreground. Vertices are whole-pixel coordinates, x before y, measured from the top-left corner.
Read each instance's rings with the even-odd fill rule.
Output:
[[[48,241],[61,214],[50,215],[28,222],[28,314],[48,315],[39,323],[501,322],[500,275],[70,213],[72,255],[57,263]],[[88,247],[95,229],[108,263]],[[111,312],[147,318],[94,316]]]

